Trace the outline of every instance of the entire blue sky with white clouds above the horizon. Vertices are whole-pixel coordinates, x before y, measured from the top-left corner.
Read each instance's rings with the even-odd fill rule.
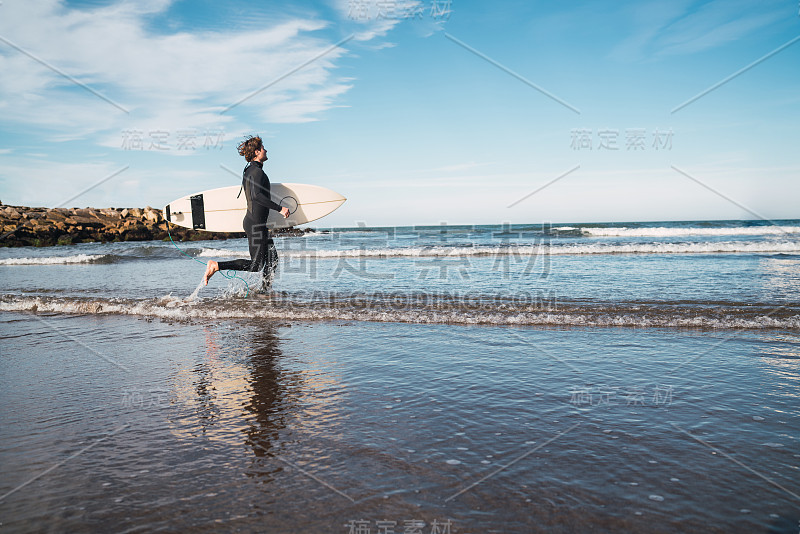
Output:
[[[0,200],[161,207],[260,134],[316,227],[797,218],[798,9],[6,0]]]

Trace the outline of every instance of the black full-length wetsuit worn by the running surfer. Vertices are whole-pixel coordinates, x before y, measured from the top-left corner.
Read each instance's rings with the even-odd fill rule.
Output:
[[[242,188],[247,199],[247,213],[242,225],[250,246],[250,260],[221,261],[219,270],[263,271],[264,286],[269,287],[278,265],[278,251],[269,235],[267,218],[269,210],[280,211],[281,206],[270,196],[269,178],[263,167],[263,163],[251,161],[242,174]]]

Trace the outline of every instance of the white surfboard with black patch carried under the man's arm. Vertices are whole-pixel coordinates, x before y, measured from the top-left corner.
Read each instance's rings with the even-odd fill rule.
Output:
[[[284,219],[270,210],[267,227],[288,228],[328,215],[347,200],[336,191],[309,184],[271,184],[272,200],[289,208]],[[164,207],[164,218],[173,224],[206,232],[243,232],[247,201],[241,185],[209,189],[173,200]]]

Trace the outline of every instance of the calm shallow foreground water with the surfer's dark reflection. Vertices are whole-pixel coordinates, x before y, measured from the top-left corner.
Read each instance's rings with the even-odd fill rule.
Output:
[[[10,531],[800,520],[795,334],[0,317]]]

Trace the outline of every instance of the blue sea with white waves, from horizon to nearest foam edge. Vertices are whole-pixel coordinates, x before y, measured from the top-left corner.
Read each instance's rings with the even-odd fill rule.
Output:
[[[258,275],[197,286],[244,239],[0,249],[0,310],[800,331],[800,224],[784,223],[317,232],[277,239],[268,305],[249,298]]]

